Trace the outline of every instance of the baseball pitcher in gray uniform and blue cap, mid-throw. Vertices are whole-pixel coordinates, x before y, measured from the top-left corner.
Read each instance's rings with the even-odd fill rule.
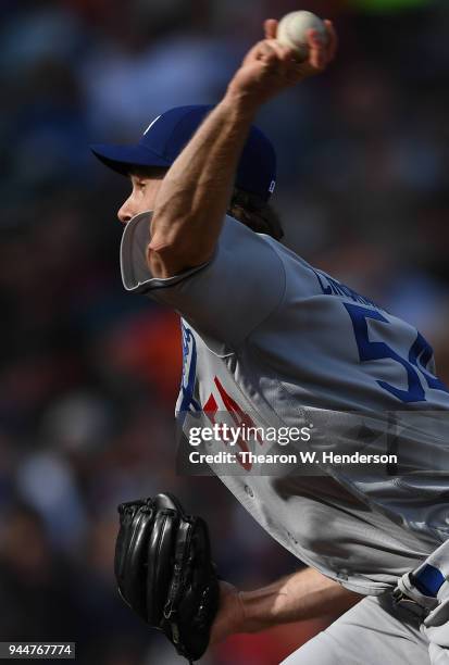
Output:
[[[387,468],[354,472],[322,454],[320,473],[270,475],[247,456],[241,473],[219,474],[308,568],[251,592],[216,582],[204,525],[160,495],[122,506],[121,592],[190,660],[235,632],[335,612],[286,663],[449,663],[449,439],[435,416],[448,412],[448,389],[414,327],[279,242],[275,154],[252,123],[265,101],[323,72],[337,38],[330,22],[327,39],[310,30],[309,58],[297,62],[275,39],[277,22],[264,29],[214,108],[172,109],[135,146],[92,147],[133,186],[119,211],[124,287],[182,316],[183,423],[225,411],[275,428],[315,418],[321,452],[344,429],[352,453],[366,436],[341,429],[344,414],[412,419],[390,437],[400,464]],[[188,644],[194,619],[205,639]]]

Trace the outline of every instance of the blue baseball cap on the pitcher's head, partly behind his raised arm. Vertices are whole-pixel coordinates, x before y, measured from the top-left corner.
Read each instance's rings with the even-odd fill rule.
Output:
[[[176,106],[155,117],[134,146],[90,146],[103,164],[127,175],[130,166],[169,168],[188,143],[211,105]],[[235,185],[244,191],[270,199],[276,180],[276,155],[266,136],[252,126],[238,163]]]

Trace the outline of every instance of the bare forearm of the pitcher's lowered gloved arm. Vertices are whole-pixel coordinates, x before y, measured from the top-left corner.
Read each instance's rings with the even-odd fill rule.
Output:
[[[313,568],[299,570],[257,591],[242,591],[239,595],[244,632],[325,614],[342,614],[362,599]]]

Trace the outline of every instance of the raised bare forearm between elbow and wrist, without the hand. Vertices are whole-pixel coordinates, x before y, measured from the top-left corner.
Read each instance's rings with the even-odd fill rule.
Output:
[[[186,268],[212,255],[254,114],[253,104],[227,92],[169,170],[151,223],[153,269],[171,273],[171,263]]]

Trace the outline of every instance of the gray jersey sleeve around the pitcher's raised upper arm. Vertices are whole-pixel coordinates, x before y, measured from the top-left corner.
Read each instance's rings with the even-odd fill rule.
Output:
[[[213,258],[166,279],[152,277],[146,260],[151,213],[134,217],[121,246],[123,285],[176,310],[194,328],[236,346],[282,301],[285,271],[271,238],[226,216]]]

